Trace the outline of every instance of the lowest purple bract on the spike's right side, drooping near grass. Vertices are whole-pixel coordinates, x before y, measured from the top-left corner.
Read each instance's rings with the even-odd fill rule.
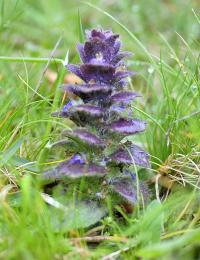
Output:
[[[137,201],[137,192],[132,183],[133,182],[129,179],[118,178],[118,180],[113,181],[112,187],[116,193],[122,196],[122,198],[132,204],[135,204]]]

